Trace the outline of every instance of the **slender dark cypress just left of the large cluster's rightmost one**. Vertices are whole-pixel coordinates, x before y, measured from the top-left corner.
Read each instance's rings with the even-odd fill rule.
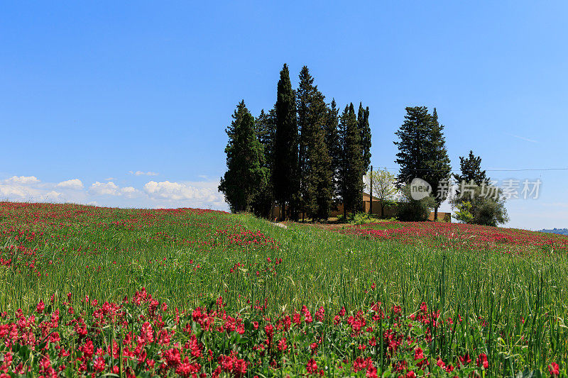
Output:
[[[342,133],[342,157],[340,162],[340,193],[344,206],[344,217],[351,211],[359,210],[363,197],[363,148],[361,131],[357,124],[353,104],[346,106],[340,123]]]

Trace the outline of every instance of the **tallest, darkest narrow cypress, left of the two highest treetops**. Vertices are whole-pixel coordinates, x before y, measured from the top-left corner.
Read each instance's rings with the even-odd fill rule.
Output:
[[[273,185],[274,197],[281,213],[289,206],[289,216],[295,215],[294,199],[298,192],[298,133],[295,94],[290,83],[288,65],[280,71],[275,104],[275,148]]]

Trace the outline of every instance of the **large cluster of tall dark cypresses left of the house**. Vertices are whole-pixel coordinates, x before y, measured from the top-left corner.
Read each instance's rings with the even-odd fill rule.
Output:
[[[270,217],[274,205],[281,216],[300,214],[322,221],[337,204],[344,215],[360,211],[363,177],[371,163],[369,109],[359,104],[327,104],[306,66],[297,89],[288,65],[280,71],[276,103],[251,123],[244,101],[227,128],[227,171],[219,191],[231,211],[252,211]],[[246,119],[245,119],[246,118]],[[239,150],[239,152],[236,152]]]

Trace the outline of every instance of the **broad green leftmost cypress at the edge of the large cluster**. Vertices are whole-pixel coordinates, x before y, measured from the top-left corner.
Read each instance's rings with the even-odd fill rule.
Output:
[[[266,186],[267,169],[264,150],[256,136],[254,117],[244,104],[236,107],[231,126],[226,128],[226,167],[219,191],[225,195],[231,211],[250,211],[254,196]]]

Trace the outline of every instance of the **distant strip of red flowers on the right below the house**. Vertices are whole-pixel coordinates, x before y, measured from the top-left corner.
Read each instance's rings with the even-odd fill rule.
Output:
[[[515,253],[568,250],[568,238],[564,235],[462,223],[388,221],[351,226],[342,232],[405,244],[427,243],[438,248],[461,245]]]

